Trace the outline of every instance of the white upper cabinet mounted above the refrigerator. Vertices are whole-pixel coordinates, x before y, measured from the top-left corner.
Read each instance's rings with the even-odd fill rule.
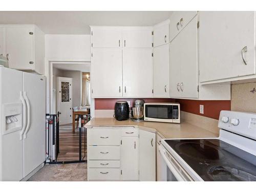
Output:
[[[1,35],[4,53],[1,54],[8,55],[9,68],[32,70],[43,75],[45,34],[34,25],[3,25],[1,31],[4,33],[4,36]]]

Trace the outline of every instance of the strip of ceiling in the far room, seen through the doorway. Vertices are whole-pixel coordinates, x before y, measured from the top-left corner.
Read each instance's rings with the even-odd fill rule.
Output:
[[[53,63],[60,70],[90,72],[90,63]]]

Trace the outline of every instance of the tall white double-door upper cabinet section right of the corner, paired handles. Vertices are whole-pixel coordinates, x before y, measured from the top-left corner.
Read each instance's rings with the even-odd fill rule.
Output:
[[[198,97],[197,17],[170,42],[170,96]]]

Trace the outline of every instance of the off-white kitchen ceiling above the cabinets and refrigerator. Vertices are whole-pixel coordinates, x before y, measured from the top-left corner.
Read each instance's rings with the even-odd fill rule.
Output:
[[[90,34],[90,25],[153,26],[171,11],[0,11],[0,24],[35,24],[46,34]]]

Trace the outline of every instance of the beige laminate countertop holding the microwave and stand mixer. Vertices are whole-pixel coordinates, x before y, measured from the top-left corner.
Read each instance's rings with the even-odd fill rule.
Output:
[[[178,138],[215,138],[219,135],[209,132],[202,127],[187,123],[162,123],[162,122],[133,122],[131,119],[118,121],[115,118],[92,118],[86,125],[92,126],[135,126],[139,129],[158,133],[166,139]]]

